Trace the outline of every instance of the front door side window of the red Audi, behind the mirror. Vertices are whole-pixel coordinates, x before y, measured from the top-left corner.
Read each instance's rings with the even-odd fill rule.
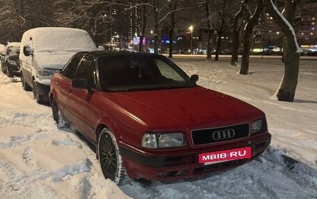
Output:
[[[87,79],[90,87],[95,89],[95,73],[95,61],[88,56],[84,56],[79,64],[74,79]]]

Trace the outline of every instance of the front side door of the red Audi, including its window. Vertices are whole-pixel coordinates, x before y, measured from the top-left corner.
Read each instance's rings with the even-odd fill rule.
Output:
[[[86,79],[92,91],[96,89],[95,60],[84,55],[76,70],[74,79]],[[70,119],[72,124],[88,138],[95,140],[95,135],[90,127],[90,98],[94,92],[88,89],[78,89],[70,86],[68,91],[67,107],[71,110]]]

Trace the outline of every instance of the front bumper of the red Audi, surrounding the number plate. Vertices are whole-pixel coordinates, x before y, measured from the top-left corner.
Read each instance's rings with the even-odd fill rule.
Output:
[[[204,148],[190,149],[192,153],[176,155],[168,155],[155,157],[146,155],[143,151],[132,150],[126,146],[120,146],[120,153],[124,161],[127,173],[132,178],[144,178],[149,180],[180,180],[186,178],[195,178],[205,175],[209,172],[222,171],[228,168],[241,166],[250,160],[261,155],[261,153],[270,145],[271,135],[266,133],[265,136],[260,135],[252,140],[236,141],[231,144],[223,144],[217,148],[210,146]],[[243,148],[250,146],[252,148],[252,157],[250,159],[236,159],[229,162],[220,162],[217,164],[209,164],[204,166],[198,162],[200,153],[209,153],[218,150],[226,150],[233,148]]]

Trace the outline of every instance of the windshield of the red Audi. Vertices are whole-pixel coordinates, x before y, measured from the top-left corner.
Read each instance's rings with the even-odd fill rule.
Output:
[[[161,55],[119,55],[98,60],[101,85],[109,92],[193,87],[176,64]]]

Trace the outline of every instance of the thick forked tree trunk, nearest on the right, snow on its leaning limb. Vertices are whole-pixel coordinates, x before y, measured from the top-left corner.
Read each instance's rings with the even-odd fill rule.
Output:
[[[300,66],[300,52],[298,42],[295,37],[295,31],[291,24],[293,24],[295,1],[285,0],[285,16],[277,10],[275,5],[270,0],[263,0],[266,11],[273,17],[278,26],[284,33],[284,76],[282,83],[277,89],[277,99],[279,101],[294,101],[295,90],[298,84],[298,71]]]

